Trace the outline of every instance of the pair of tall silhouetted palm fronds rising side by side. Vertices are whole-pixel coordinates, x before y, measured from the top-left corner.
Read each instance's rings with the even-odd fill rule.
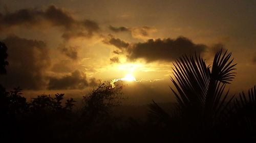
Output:
[[[200,55],[184,55],[173,63],[173,77],[170,77],[174,88],[170,87],[178,101],[181,116],[197,117],[213,123],[232,100],[227,100],[228,92],[224,94],[225,84],[234,78],[235,70],[230,60],[231,53],[222,49],[215,54],[212,67],[206,66]],[[223,96],[224,95],[224,96]],[[157,104],[151,104],[151,113],[161,112]],[[158,112],[158,113],[157,113]],[[160,116],[159,116],[160,117]]]

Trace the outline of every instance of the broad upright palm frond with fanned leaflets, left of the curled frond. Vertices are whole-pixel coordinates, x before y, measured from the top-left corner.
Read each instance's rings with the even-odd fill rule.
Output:
[[[205,97],[207,94],[210,70],[206,66],[204,60],[195,54],[182,56],[176,60],[174,64],[174,80],[175,88],[178,94],[175,93],[177,99],[181,99],[180,102],[186,107],[194,106],[202,108],[204,106]],[[179,97],[178,97],[179,96]]]

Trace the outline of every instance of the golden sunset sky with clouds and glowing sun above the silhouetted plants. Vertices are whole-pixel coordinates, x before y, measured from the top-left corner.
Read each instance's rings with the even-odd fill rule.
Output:
[[[211,64],[232,52],[232,93],[256,84],[256,1],[0,1],[8,47],[6,88],[27,95],[82,97],[99,82],[124,79],[133,104],[174,102],[173,62],[200,53]],[[121,82],[121,81],[117,81]]]

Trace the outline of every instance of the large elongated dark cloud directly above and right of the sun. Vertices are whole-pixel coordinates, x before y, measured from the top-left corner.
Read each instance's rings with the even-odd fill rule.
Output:
[[[136,60],[143,58],[147,62],[153,61],[174,61],[183,54],[203,52],[206,45],[194,44],[185,37],[177,39],[150,39],[144,43],[136,43],[127,49],[127,58]]]

